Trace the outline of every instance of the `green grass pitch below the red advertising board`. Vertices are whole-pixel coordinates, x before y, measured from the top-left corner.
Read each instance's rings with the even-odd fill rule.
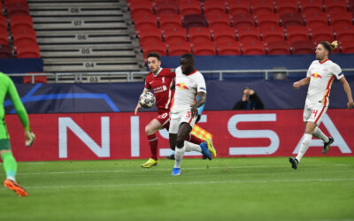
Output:
[[[0,188],[0,220],[354,220],[354,157],[143,162],[19,163],[29,197]]]

